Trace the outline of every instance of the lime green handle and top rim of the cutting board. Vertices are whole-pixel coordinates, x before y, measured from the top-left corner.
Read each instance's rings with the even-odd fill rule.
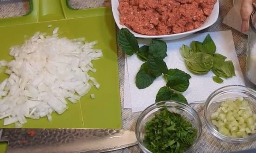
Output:
[[[69,7],[68,0],[30,0],[28,14],[0,19],[0,27],[108,14],[111,14],[110,7],[76,10]]]

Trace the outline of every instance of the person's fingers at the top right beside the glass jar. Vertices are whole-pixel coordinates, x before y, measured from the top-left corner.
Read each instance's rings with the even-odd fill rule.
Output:
[[[255,0],[243,0],[240,14],[242,18],[242,32],[246,32],[249,30],[249,20],[250,20],[250,15],[253,12],[253,2]]]

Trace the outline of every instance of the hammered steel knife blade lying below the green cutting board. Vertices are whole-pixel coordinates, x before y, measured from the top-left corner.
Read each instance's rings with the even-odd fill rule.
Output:
[[[7,153],[100,153],[137,144],[124,129],[0,128]]]

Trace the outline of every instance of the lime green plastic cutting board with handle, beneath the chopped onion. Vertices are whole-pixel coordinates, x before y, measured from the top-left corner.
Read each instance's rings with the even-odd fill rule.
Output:
[[[68,110],[61,115],[54,112],[52,121],[49,122],[46,117],[39,120],[28,119],[23,128],[121,128],[116,33],[111,9],[102,7],[71,10],[67,7],[65,0],[43,0],[43,2],[33,0],[32,2],[33,10],[30,14],[18,18],[0,19],[0,60],[11,61],[13,58],[8,55],[9,48],[23,44],[24,40],[29,39],[35,32],[52,34],[53,29],[59,27],[60,37],[65,36],[69,39],[85,37],[89,42],[98,41],[95,48],[102,50],[103,57],[93,61],[97,72],[90,75],[95,77],[101,86],[99,90],[92,87],[78,103],[69,102]],[[53,12],[58,9],[52,9],[53,12],[51,12],[49,8],[45,11],[45,3],[48,6],[51,3],[51,8],[54,5],[53,8],[59,8],[65,13],[54,14]],[[37,20],[33,19],[34,16]],[[52,28],[47,28],[48,25],[52,25]],[[4,71],[5,67],[1,68],[0,82],[8,78]],[[91,99],[90,94],[95,94],[96,99]],[[14,125],[3,126],[3,120],[0,120],[0,127],[13,128]],[[3,150],[5,147],[6,144],[0,144],[0,153],[5,152]]]

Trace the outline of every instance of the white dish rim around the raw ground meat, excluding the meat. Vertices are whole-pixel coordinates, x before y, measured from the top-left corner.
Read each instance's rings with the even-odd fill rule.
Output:
[[[119,11],[117,10],[117,8],[119,6],[119,0],[111,0],[111,5],[112,5],[112,13],[113,13],[117,27],[119,29],[127,28],[125,25],[120,25]],[[198,32],[200,30],[210,27],[217,21],[218,16],[219,16],[219,0],[217,0],[217,2],[215,3],[213,10],[212,10],[212,14],[204,21],[204,23],[197,29],[194,29],[191,31],[176,33],[176,34],[167,34],[167,35],[143,35],[143,34],[134,32],[129,28],[127,28],[127,29],[129,29],[131,31],[131,33],[133,33],[134,36],[136,36],[138,38],[148,38],[148,39],[157,38],[157,39],[161,39],[161,40],[175,40],[175,39],[180,39],[182,37],[186,37],[190,34],[193,34],[195,32]]]

